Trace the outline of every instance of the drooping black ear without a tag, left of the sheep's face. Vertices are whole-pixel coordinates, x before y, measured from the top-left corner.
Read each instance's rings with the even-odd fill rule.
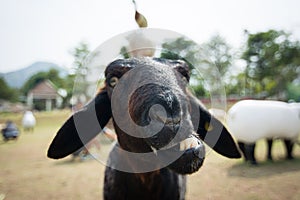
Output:
[[[75,152],[100,133],[110,118],[110,100],[107,92],[102,91],[63,124],[50,144],[47,156],[59,159]]]

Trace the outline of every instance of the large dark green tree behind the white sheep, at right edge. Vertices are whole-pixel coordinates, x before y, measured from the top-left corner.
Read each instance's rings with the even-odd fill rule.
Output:
[[[246,87],[254,94],[282,98],[299,76],[300,45],[284,31],[248,34],[242,58],[247,62]]]

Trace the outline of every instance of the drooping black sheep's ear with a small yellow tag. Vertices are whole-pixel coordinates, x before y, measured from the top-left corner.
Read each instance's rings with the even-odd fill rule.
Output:
[[[190,96],[192,121],[198,136],[217,153],[228,158],[240,158],[241,154],[229,131],[193,96]],[[199,110],[199,112],[195,112]],[[193,112],[194,111],[194,112]],[[200,120],[199,120],[200,119]]]

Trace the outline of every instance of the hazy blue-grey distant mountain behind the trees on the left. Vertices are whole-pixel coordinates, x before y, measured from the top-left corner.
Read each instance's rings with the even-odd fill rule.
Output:
[[[17,71],[0,73],[0,77],[4,77],[4,80],[10,87],[20,88],[32,75],[38,72],[47,72],[50,69],[59,71],[61,77],[65,77],[68,74],[67,69],[60,67],[57,64],[50,62],[35,62],[32,65]]]

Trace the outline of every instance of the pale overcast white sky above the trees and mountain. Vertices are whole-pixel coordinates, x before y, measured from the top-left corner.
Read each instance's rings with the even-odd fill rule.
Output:
[[[136,0],[149,28],[201,44],[220,34],[233,47],[250,33],[284,30],[300,40],[299,0]],[[37,61],[70,68],[80,42],[91,50],[137,29],[132,0],[0,0],[0,72]]]

